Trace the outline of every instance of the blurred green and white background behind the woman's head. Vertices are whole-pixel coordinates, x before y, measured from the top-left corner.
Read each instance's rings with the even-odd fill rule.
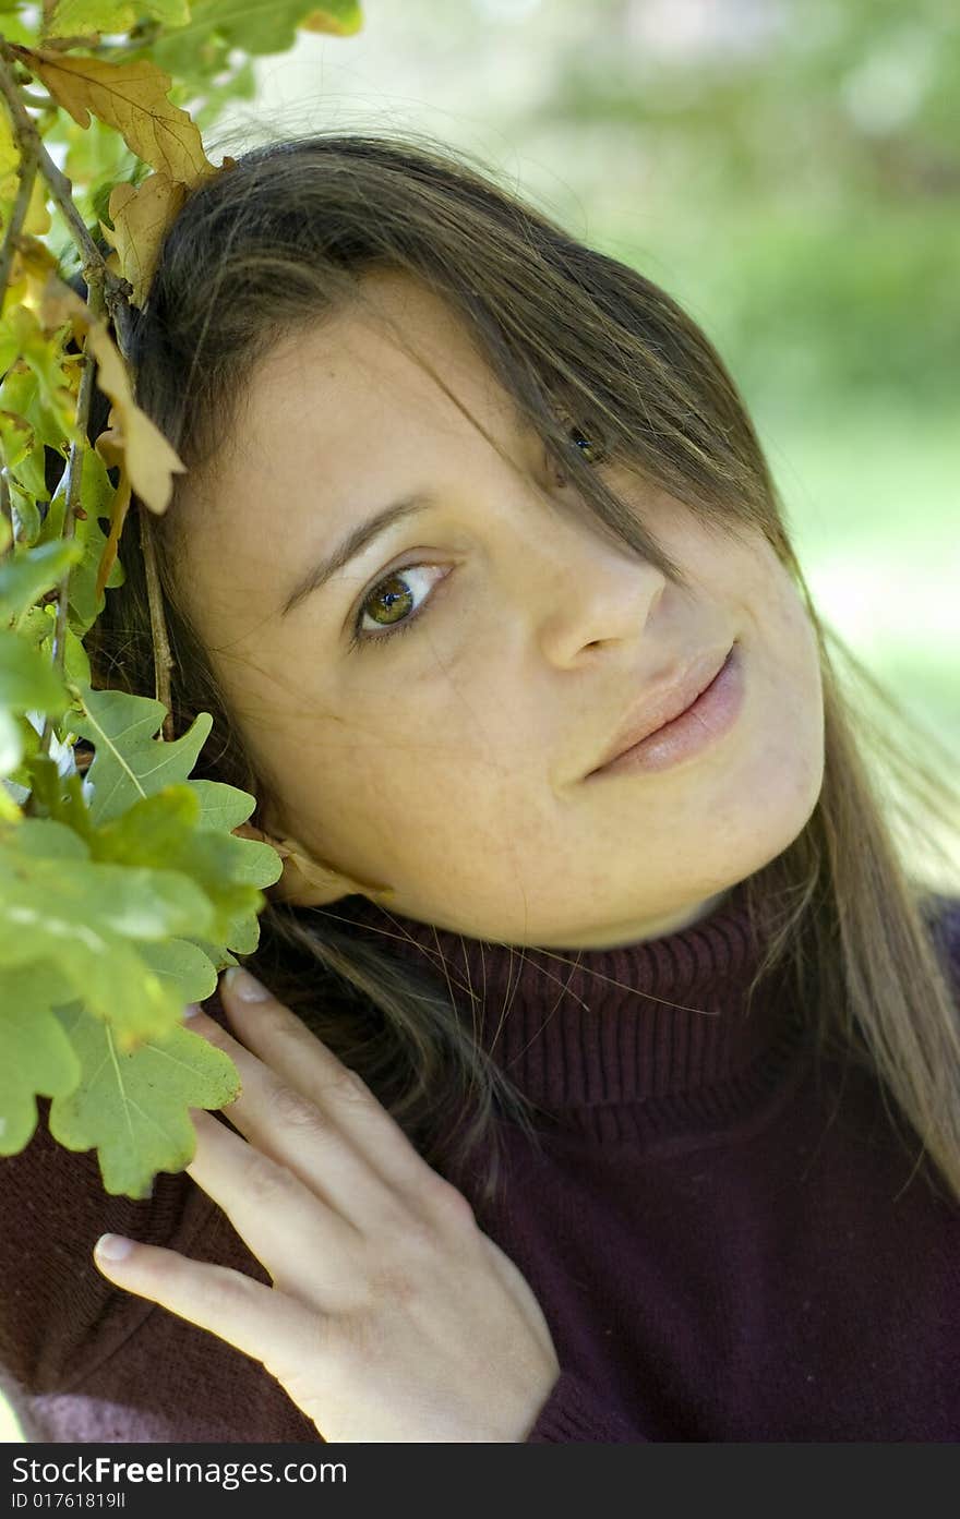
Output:
[[[960,755],[955,0],[365,14],[258,59],[210,156],[425,132],[662,284],[746,395],[828,623]]]

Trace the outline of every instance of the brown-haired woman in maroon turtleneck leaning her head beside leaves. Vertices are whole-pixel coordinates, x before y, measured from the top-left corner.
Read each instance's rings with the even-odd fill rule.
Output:
[[[465,161],[319,137],[190,196],[134,342],[178,731],[284,876],[187,1174],[0,1170],[36,1437],[957,1438],[960,914],[705,336]]]

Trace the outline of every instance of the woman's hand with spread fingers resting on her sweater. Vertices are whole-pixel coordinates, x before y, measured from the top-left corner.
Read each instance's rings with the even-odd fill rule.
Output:
[[[146,1244],[100,1271],[261,1361],[324,1440],[526,1440],[559,1376],[526,1279],[293,1013],[220,990],[243,1044],[188,1027],[237,1065],[240,1133],[191,1109],[187,1171],[273,1285]]]

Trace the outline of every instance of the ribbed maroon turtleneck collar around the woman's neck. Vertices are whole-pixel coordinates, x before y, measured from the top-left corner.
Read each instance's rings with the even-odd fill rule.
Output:
[[[513,1085],[557,1115],[589,1110],[597,1133],[620,1132],[614,1109],[624,1107],[643,1109],[655,1130],[671,1126],[670,1113],[681,1127],[697,1113],[734,1118],[796,1045],[781,975],[764,980],[746,1015],[759,943],[744,883],[693,927],[611,949],[510,948],[365,896],[328,911],[437,974]]]

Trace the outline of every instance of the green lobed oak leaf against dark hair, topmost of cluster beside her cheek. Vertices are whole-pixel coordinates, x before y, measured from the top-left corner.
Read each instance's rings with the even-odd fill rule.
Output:
[[[87,772],[94,823],[111,822],[141,797],[185,781],[213,726],[210,712],[199,712],[188,732],[163,743],[153,738],[164,720],[163,702],[91,687],[79,690],[79,700],[82,715],[71,715],[70,726],[96,744]]]

